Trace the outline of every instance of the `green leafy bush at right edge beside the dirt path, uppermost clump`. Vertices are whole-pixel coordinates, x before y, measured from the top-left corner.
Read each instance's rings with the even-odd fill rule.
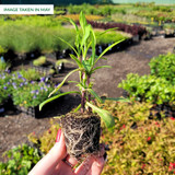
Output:
[[[151,74],[164,78],[175,85],[175,55],[160,55],[150,61]]]

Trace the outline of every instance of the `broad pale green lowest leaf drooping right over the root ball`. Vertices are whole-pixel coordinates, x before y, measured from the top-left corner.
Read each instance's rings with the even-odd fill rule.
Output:
[[[86,105],[100,115],[108,129],[115,126],[114,117],[107,110],[101,109],[89,102],[86,102]]]

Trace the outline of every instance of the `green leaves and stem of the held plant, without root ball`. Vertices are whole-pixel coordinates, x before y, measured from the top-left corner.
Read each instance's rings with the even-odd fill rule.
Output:
[[[72,60],[75,61],[75,63],[78,65],[79,68],[74,69],[73,71],[68,73],[68,75],[57,86],[57,89],[50,93],[50,95],[56,93],[63,85],[63,83],[69,78],[69,75],[71,75],[74,72],[79,72],[80,82],[72,82],[72,81],[70,81],[70,82],[75,83],[80,91],[79,92],[75,92],[75,91],[66,92],[66,93],[56,95],[55,97],[50,97],[49,100],[43,102],[39,107],[42,108],[46,103],[55,100],[56,97],[67,95],[70,93],[78,93],[79,95],[81,95],[81,104],[78,106],[77,110],[79,108],[81,108],[81,113],[84,113],[86,107],[88,107],[88,112],[91,112],[93,109],[95,113],[97,113],[102,117],[102,119],[105,121],[106,126],[108,128],[112,128],[114,126],[114,119],[113,119],[112,115],[107,110],[103,110],[103,109],[100,109],[98,107],[94,106],[92,103],[93,97],[96,98],[97,101],[100,101],[101,103],[103,102],[103,100],[93,91],[93,89],[92,89],[93,83],[91,82],[91,77],[96,70],[98,70],[101,68],[109,68],[108,66],[95,67],[95,65],[100,59],[103,58],[103,55],[105,52],[107,52],[112,47],[114,47],[115,45],[117,45],[121,40],[112,44],[97,57],[95,55],[95,46],[96,46],[95,33],[94,33],[92,26],[90,24],[88,24],[88,22],[85,20],[85,15],[82,12],[80,13],[81,30],[79,30],[79,27],[77,26],[74,21],[72,21],[71,19],[69,19],[69,21],[75,27],[75,33],[77,33],[75,43],[74,43],[75,48],[73,48],[73,46],[71,46],[65,39],[62,39],[62,38],[60,38],[60,39],[62,42],[65,42],[66,44],[68,44],[75,52],[75,56],[70,55],[70,57],[72,58]],[[104,32],[103,34],[105,34],[106,32]],[[90,48],[92,48],[92,55],[90,57],[88,57],[86,54]]]

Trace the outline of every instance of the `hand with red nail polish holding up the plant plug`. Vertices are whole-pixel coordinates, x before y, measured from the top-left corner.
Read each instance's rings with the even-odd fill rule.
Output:
[[[105,164],[104,153],[105,151],[102,149],[102,156],[91,155],[73,170],[72,167],[78,164],[78,161],[67,154],[63,135],[61,130],[58,130],[55,145],[28,175],[100,175]]]

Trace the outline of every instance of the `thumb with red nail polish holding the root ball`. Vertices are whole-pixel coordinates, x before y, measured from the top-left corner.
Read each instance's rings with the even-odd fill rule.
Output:
[[[61,162],[62,159],[67,155],[65,138],[61,133],[61,130],[58,130],[57,142],[51,148],[51,150],[46,154],[30,172],[28,175],[50,175],[55,167]]]

